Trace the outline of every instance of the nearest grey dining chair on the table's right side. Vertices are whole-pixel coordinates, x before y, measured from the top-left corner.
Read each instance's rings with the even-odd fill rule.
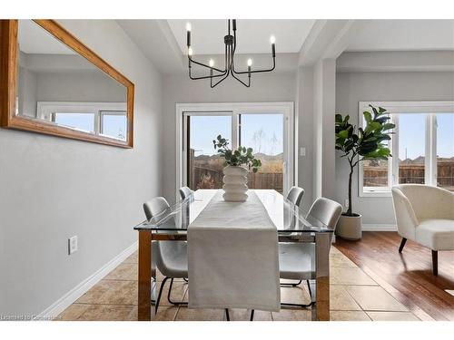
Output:
[[[308,216],[320,220],[330,228],[336,228],[341,217],[342,206],[332,199],[316,199],[313,202]],[[312,273],[312,257],[315,251],[314,243],[280,243],[279,267],[281,279],[305,280],[311,296],[310,280]],[[281,306],[307,307],[302,304],[281,303]]]

